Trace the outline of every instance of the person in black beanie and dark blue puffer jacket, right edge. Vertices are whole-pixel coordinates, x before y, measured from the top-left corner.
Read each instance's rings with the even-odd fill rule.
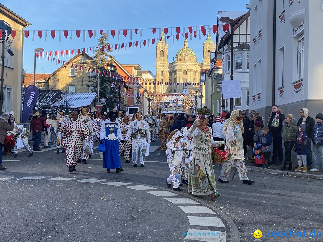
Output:
[[[314,168],[310,171],[319,171],[320,160],[323,168],[323,114],[319,113],[315,116],[317,123],[313,128],[313,153],[314,153]]]

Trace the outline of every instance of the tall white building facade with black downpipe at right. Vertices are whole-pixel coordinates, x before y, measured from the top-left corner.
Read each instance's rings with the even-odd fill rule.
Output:
[[[298,117],[323,111],[323,1],[251,0],[250,108],[268,116],[276,104]]]

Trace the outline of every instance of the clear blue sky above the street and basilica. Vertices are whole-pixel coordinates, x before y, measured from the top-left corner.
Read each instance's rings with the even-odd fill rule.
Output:
[[[182,27],[182,26],[200,26],[217,24],[217,11],[245,11],[246,4],[250,0],[214,0],[214,1],[196,1],[196,0],[117,0],[117,1],[99,1],[99,0],[78,0],[78,1],[44,1],[44,0],[2,0],[2,4],[7,8],[26,19],[32,25],[25,30],[106,30],[106,29],[145,29],[162,27]],[[207,26],[206,26],[207,27]],[[194,29],[193,29],[194,30]],[[181,29],[182,31],[182,29]],[[82,32],[82,31],[81,31]],[[173,30],[173,33],[175,30]],[[186,28],[187,32],[187,28]],[[138,32],[139,33],[139,32]],[[120,33],[120,40],[117,34],[114,38],[110,36],[110,44],[127,43],[151,38],[158,38],[159,31],[152,34],[151,30],[143,30],[140,38],[139,34],[132,33],[132,40],[129,35],[123,37]],[[58,37],[52,39],[50,31],[47,33],[47,41],[44,36],[39,39],[35,34],[35,41],[32,41],[32,33],[24,39],[24,70],[26,73],[34,73],[34,49],[44,48],[45,51],[70,50],[78,48],[87,48],[96,46],[97,40],[87,36],[83,42],[82,34],[78,39],[75,31],[72,40],[61,33],[61,42]],[[58,35],[56,33],[56,35]],[[98,31],[96,38],[98,38]],[[170,35],[170,30],[168,35]],[[201,34],[202,35],[202,34]],[[211,38],[215,42],[215,34]],[[184,37],[180,35],[174,44],[172,39],[168,39],[168,61],[171,62],[176,56],[177,51],[183,47]],[[189,47],[193,49],[202,62],[202,45],[206,36],[197,37],[189,41]],[[91,53],[89,53],[91,54]],[[127,48],[126,50],[117,50],[111,53],[121,64],[139,64],[142,70],[150,70],[156,73],[156,45],[141,48]],[[71,57],[70,57],[71,58]],[[68,60],[68,57],[59,59]],[[45,59],[36,59],[36,73],[52,73],[60,64],[57,62],[45,61]]]

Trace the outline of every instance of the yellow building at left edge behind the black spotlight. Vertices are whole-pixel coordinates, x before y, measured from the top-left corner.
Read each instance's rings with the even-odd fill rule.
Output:
[[[2,108],[5,113],[13,111],[16,121],[20,121],[22,112],[24,29],[31,24],[2,4],[0,4],[0,20],[4,20],[9,24],[13,30],[12,35],[15,35],[15,38],[10,35],[8,41],[3,43],[5,48],[11,50],[14,55],[9,55],[7,51],[4,53],[3,104],[2,106],[0,105],[0,109]]]

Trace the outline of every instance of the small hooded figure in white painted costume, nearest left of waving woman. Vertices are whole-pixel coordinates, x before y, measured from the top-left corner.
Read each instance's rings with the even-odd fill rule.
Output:
[[[173,190],[182,191],[183,189],[179,188],[180,186],[180,171],[182,164],[182,133],[178,129],[175,129],[168,136],[167,144],[166,144],[166,156],[167,163],[169,169],[171,171],[171,175],[167,178],[166,183],[168,187],[171,187],[171,183]]]

